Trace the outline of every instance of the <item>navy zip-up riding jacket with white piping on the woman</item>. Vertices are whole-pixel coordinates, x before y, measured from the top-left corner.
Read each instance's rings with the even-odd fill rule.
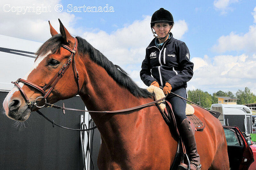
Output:
[[[157,81],[162,87],[165,82],[169,82],[172,89],[186,88],[187,81],[193,76],[194,67],[194,64],[189,61],[187,45],[173,38],[170,33],[168,40],[159,49],[155,39],[146,48],[146,57],[140,71],[141,80],[147,86],[150,86],[153,81]]]

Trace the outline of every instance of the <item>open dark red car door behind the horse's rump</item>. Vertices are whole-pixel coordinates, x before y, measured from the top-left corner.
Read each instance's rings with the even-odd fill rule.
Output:
[[[237,126],[223,126],[228,144],[231,170],[246,170],[254,161],[252,149]]]

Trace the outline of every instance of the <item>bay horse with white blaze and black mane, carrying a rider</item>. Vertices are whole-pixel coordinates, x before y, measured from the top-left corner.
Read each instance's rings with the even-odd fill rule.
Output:
[[[39,109],[32,105],[38,97],[55,103],[79,94],[92,111],[115,111],[154,101],[151,93],[139,88],[124,70],[86,40],[72,37],[61,21],[60,34],[51,24],[50,32],[52,37],[38,49],[33,67],[23,77],[30,84],[16,82],[4,99],[9,118],[27,120],[32,111]],[[64,69],[65,74],[61,72]],[[52,78],[58,73],[61,76],[55,83]],[[49,84],[54,84],[54,88]],[[42,89],[51,91],[42,97]],[[195,134],[202,169],[228,170],[227,143],[220,121],[198,106],[193,107],[205,123],[204,130]],[[170,169],[178,139],[156,105],[133,112],[90,115],[101,134],[99,169]]]

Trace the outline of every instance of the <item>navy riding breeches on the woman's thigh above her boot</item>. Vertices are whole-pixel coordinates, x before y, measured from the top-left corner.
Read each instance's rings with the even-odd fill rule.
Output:
[[[175,91],[172,91],[173,93],[187,99],[187,91],[185,88],[180,88]],[[172,110],[175,115],[175,119],[177,122],[177,125],[179,126],[186,116],[186,100],[174,96],[173,94],[169,94],[167,98],[165,99],[169,101],[172,104]]]

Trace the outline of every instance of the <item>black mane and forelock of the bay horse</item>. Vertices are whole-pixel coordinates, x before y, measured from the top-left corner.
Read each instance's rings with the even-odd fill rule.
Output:
[[[92,47],[83,38],[77,36],[78,47],[77,50],[83,54],[89,54],[92,61],[97,63],[99,66],[102,66],[107,73],[119,84],[120,86],[128,89],[136,97],[152,97],[152,94],[149,93],[146,89],[138,87],[138,85],[128,76],[128,74],[119,66],[114,65],[111,61],[108,60],[99,50]],[[55,53],[60,47],[61,44],[65,44],[62,36],[55,35],[49,40],[47,40],[36,52],[36,55],[44,55],[49,50],[52,53]]]

